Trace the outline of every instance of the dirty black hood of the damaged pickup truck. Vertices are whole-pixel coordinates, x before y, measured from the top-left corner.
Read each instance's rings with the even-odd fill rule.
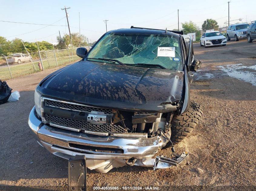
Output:
[[[165,69],[80,61],[49,75],[38,91],[48,97],[92,105],[161,105],[181,99],[183,76]]]

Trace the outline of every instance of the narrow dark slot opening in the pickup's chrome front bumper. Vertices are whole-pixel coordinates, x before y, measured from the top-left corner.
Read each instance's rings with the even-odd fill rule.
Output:
[[[92,147],[88,145],[79,145],[75,143],[68,143],[69,147],[78,148],[87,151],[104,152],[104,153],[124,153],[123,149],[119,148],[105,148],[105,147]]]

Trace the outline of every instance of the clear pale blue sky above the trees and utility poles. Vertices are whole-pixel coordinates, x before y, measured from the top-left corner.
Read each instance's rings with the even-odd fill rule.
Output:
[[[94,1],[67,1],[67,0],[42,0],[42,1],[3,1],[0,0],[0,20],[24,23],[67,25],[65,11],[69,14],[71,33],[79,32],[78,13],[80,12],[81,34],[91,39],[98,40],[106,32],[105,23],[107,19],[108,30],[118,28],[130,28],[131,25],[148,28],[165,28],[169,30],[178,28],[177,10],[179,9],[179,22],[193,21],[199,27],[207,18],[217,19],[220,27],[226,26],[228,20],[228,0],[218,1],[155,1],[155,0],[94,0]],[[243,21],[256,20],[255,0],[231,0],[230,20],[243,18]],[[252,8],[254,7],[254,8]],[[61,36],[68,33],[68,27],[6,23],[0,21],[0,36],[8,40],[21,38],[25,41],[46,40],[50,43],[56,42],[56,36],[60,30]],[[239,22],[239,21],[233,21]],[[45,27],[43,29],[40,29]],[[75,28],[77,27],[77,28]],[[180,24],[181,27],[181,24]],[[40,30],[38,30],[40,29]],[[36,30],[36,31],[34,31]],[[90,31],[93,30],[93,31]],[[31,32],[34,31],[34,32]],[[28,33],[31,32],[31,33]],[[27,34],[23,34],[27,33]],[[22,35],[20,35],[22,34]],[[18,36],[16,36],[18,35]],[[12,37],[13,36],[13,37]]]

